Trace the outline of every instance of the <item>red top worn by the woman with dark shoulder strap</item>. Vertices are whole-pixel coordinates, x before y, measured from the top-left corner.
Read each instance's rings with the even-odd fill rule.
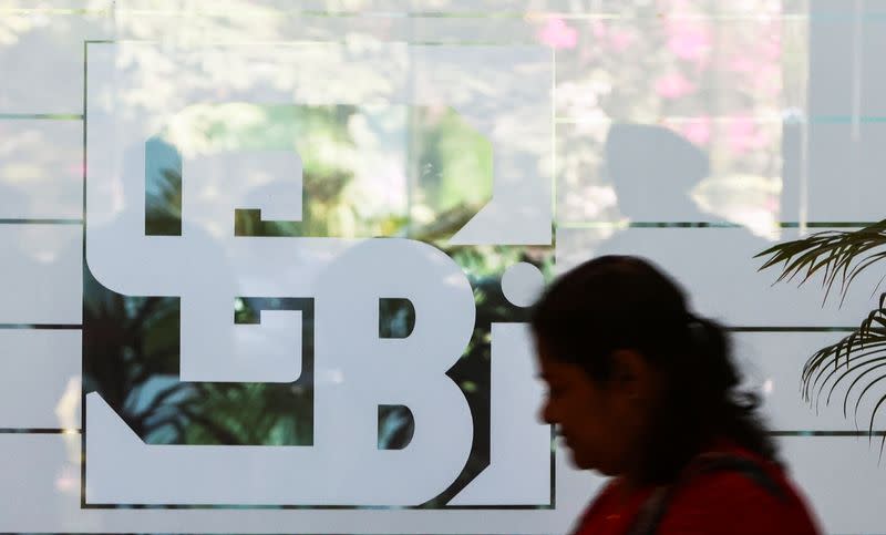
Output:
[[[803,500],[777,465],[743,450],[730,449],[725,453],[754,461],[777,485],[780,495],[736,471],[711,471],[689,476],[674,487],[656,534],[821,533]],[[653,491],[646,487],[626,493],[624,483],[618,479],[611,481],[588,507],[576,535],[625,535]]]

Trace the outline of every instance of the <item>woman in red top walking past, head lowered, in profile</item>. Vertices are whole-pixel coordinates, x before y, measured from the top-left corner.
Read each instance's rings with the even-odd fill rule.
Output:
[[[755,397],[736,391],[724,330],[652,265],[577,267],[536,303],[532,327],[543,419],[578,467],[612,476],[577,534],[818,533]]]

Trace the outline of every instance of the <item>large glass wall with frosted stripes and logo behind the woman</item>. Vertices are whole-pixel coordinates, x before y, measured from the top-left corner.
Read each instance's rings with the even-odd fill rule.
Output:
[[[882,218],[878,10],[0,2],[0,531],[567,533],[602,480],[525,323],[606,253],[736,329],[825,527],[882,531],[877,449],[794,388],[880,274],[823,307],[753,258]]]

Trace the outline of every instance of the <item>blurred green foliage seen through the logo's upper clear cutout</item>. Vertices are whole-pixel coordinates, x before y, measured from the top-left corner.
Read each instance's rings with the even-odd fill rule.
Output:
[[[399,148],[390,145],[402,144],[405,134],[408,151],[396,162],[403,167],[398,176],[390,167]],[[492,145],[450,107],[203,104],[185,110],[145,148],[146,230],[152,235],[182,234],[185,154],[292,151],[300,156],[301,220],[265,220],[258,209],[237,209],[238,236],[418,233],[447,238],[492,197]],[[248,185],[245,181],[241,187]]]

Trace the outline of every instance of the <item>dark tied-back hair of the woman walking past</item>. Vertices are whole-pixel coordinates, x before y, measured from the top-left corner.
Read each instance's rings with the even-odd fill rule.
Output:
[[[775,461],[776,447],[741,380],[727,332],[697,317],[680,287],[650,263],[602,256],[557,279],[532,313],[536,339],[555,360],[578,364],[597,382],[611,377],[614,351],[632,349],[662,373],[663,400],[646,436],[641,477],[673,481],[718,439]]]

